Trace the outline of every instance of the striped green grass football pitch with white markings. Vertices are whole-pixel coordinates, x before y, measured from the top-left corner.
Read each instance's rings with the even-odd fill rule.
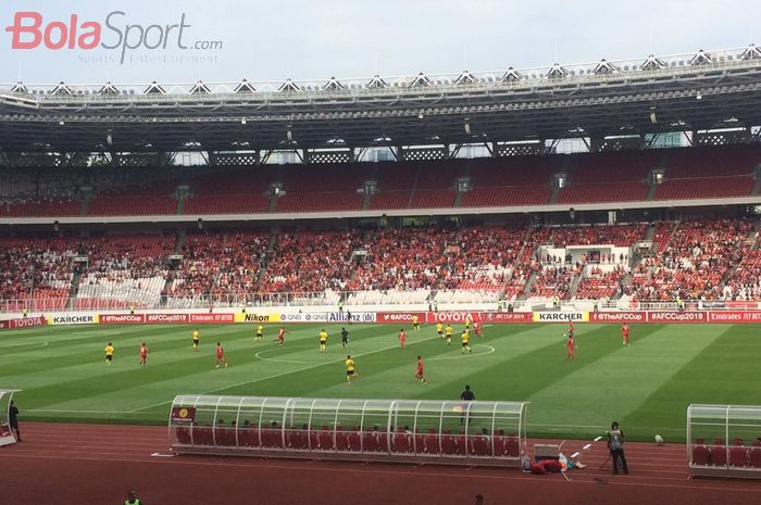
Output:
[[[328,325],[319,352],[315,325],[276,326],[254,344],[254,327],[202,325],[192,350],[189,325],[72,326],[0,333],[0,388],[15,396],[22,420],[164,424],[176,394],[209,393],[362,399],[459,399],[531,402],[528,435],[592,438],[619,420],[635,439],[684,440],[690,403],[759,404],[761,336],[752,325],[634,325],[622,346],[617,325],[576,325],[576,359],[566,363],[565,325],[485,326],[463,355],[433,325],[408,328],[400,349],[395,325],[353,325],[347,349]],[[112,366],[103,348],[112,341]],[[148,365],[138,364],[146,341]],[[228,368],[214,367],[221,341]],[[351,354],[361,376],[346,383]],[[428,384],[414,379],[417,355]]]

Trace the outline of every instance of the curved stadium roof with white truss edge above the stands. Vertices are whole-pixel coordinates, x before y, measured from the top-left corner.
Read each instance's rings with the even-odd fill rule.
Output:
[[[364,148],[761,125],[761,51],[321,81],[0,84],[8,152]]]

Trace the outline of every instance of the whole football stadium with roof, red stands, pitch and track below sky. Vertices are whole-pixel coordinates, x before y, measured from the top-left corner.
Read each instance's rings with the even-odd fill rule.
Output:
[[[752,43],[0,84],[9,503],[758,503],[760,97]]]

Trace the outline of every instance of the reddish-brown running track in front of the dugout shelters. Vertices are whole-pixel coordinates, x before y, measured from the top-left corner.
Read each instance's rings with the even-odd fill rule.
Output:
[[[148,505],[758,504],[761,482],[687,479],[684,445],[626,444],[613,476],[604,442],[567,441],[588,467],[532,476],[515,469],[407,466],[171,454],[166,428],[26,422],[0,449],[0,503],[121,504],[135,487]]]

